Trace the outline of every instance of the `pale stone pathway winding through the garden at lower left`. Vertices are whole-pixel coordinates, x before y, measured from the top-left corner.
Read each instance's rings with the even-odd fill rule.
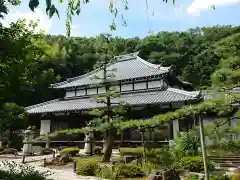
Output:
[[[50,175],[47,179],[48,180],[100,180],[100,178],[97,177],[87,177],[87,176],[77,176],[72,172],[72,169],[50,169],[47,167],[41,167],[39,161],[43,160],[44,158],[49,159],[52,155],[45,155],[45,156],[34,156],[34,157],[27,157],[26,162],[28,165],[33,166],[36,170],[40,172],[49,171],[50,173],[53,173],[53,175]],[[0,156],[0,168],[3,167],[3,163],[1,161],[9,161],[9,162],[15,162],[17,164],[22,164],[22,159],[20,158],[13,158],[13,156]]]

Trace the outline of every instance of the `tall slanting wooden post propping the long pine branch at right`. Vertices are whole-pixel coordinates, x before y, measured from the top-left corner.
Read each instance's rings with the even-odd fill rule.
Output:
[[[204,135],[204,127],[203,127],[203,119],[199,116],[199,126],[200,126],[200,139],[201,139],[201,147],[202,147],[202,156],[203,156],[203,163],[204,163],[204,174],[205,180],[209,180],[208,174],[208,162],[207,162],[207,152],[206,152],[206,144],[205,144],[205,135]]]

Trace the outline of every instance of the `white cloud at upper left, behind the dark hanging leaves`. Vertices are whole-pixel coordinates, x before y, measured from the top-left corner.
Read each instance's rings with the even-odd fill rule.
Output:
[[[9,13],[3,20],[3,25],[8,26],[11,22],[16,22],[19,19],[25,19],[26,23],[38,22],[36,32],[43,30],[44,32],[49,32],[52,26],[52,20],[48,18],[46,13],[43,13],[40,9],[35,9],[34,12],[20,12],[16,11],[14,13]]]

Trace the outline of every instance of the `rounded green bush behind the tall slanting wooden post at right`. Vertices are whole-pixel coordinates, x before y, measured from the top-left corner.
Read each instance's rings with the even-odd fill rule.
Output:
[[[202,172],[204,171],[203,159],[200,156],[189,156],[180,159],[179,164],[182,168],[187,169],[191,172]],[[211,162],[208,164],[210,172],[214,170],[214,166]]]

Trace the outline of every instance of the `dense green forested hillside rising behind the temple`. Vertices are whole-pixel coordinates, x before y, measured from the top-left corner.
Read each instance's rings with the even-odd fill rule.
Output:
[[[0,104],[28,106],[53,99],[61,92],[51,83],[91,71],[98,61],[99,37],[44,36],[19,22],[0,28]],[[216,26],[185,32],[159,32],[143,39],[112,37],[112,55],[140,51],[196,88],[239,83],[240,26]],[[234,82],[234,83],[233,83]]]

